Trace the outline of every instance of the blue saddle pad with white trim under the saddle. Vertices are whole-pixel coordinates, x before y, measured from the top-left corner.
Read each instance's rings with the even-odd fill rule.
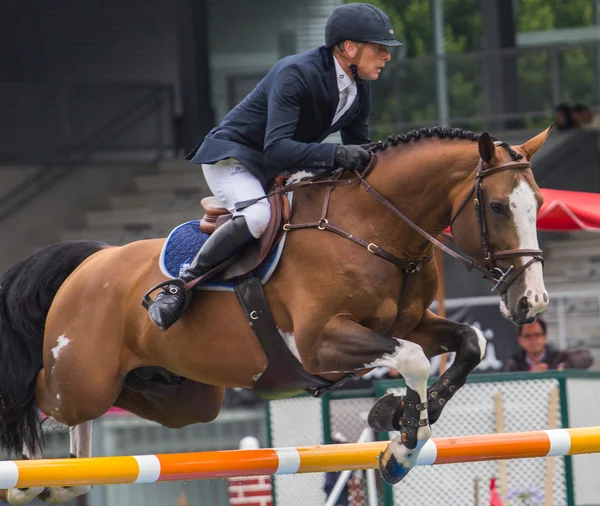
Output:
[[[286,235],[283,235],[277,247],[255,271],[263,284],[269,280],[277,267]],[[162,273],[169,278],[179,277],[180,272],[189,265],[208,237],[208,234],[200,230],[200,220],[188,221],[173,229],[160,252]],[[196,289],[200,290],[233,291],[234,288],[235,283],[224,281],[218,275],[196,286]]]

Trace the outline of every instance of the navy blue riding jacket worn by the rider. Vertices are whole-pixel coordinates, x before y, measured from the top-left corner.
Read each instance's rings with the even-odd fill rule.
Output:
[[[191,163],[236,158],[261,182],[285,169],[330,168],[341,131],[344,144],[366,144],[371,84],[358,84],[346,113],[331,121],[339,101],[333,55],[325,46],[279,60],[256,88],[188,155]]]

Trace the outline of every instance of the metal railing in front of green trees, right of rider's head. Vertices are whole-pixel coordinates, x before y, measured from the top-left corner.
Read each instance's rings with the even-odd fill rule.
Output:
[[[598,104],[599,54],[596,43],[560,43],[392,59],[373,85],[373,137],[445,121],[475,131],[547,126],[560,102]]]

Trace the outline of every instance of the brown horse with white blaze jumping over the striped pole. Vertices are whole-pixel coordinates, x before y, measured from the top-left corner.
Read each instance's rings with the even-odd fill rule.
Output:
[[[429,423],[485,349],[477,329],[428,310],[437,287],[429,237],[452,226],[460,250],[498,284],[501,310],[515,324],[546,309],[535,227],[542,197],[529,160],[548,131],[511,147],[486,133],[422,129],[378,145],[364,179],[344,175],[355,184],[334,191],[315,185],[294,194],[292,224],[318,221],[328,196],[327,220],[320,224],[363,242],[325,226],[287,232],[280,264],[265,285],[268,303],[277,327],[293,333],[290,348],[309,373],[336,380],[390,366],[406,379],[406,397],[383,397],[370,416],[376,429],[401,432],[380,458],[391,483],[414,465],[431,436]],[[36,407],[75,427],[71,454],[87,457],[91,421],[111,406],[183,427],[213,420],[225,387],[253,387],[267,361],[233,293],[197,292],[185,317],[165,333],[150,322],[140,300],[165,279],[158,266],[163,243],[59,243],[5,273],[4,449],[41,456]],[[427,357],[445,352],[456,352],[454,363],[428,389]],[[129,387],[127,375],[143,367],[186,381]],[[60,502],[88,489],[10,489],[1,497],[23,504],[41,494]]]

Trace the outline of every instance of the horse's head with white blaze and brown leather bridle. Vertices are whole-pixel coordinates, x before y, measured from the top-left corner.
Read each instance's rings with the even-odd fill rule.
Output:
[[[452,234],[496,283],[500,309],[515,324],[531,323],[548,306],[536,218],[542,194],[530,160],[550,129],[520,146],[479,138],[475,182],[461,190],[452,209]]]

